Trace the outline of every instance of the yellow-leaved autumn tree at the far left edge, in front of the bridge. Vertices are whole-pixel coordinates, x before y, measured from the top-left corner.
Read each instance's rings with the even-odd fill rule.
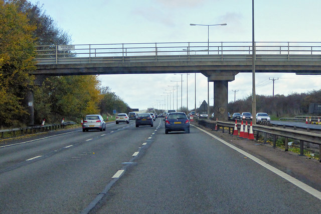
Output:
[[[24,97],[35,69],[34,25],[15,4],[0,0],[0,124],[15,126],[26,117]]]

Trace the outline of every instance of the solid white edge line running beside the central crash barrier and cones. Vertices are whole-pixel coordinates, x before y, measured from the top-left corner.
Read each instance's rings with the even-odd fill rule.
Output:
[[[196,127],[194,125],[192,125],[193,127]],[[228,142],[216,137],[215,135],[212,135],[211,133],[199,128],[199,127],[196,127],[197,129],[201,130],[202,132],[208,134],[209,136],[215,138],[216,140],[220,141],[221,143],[225,144],[226,146],[236,150],[237,152],[247,156],[248,158],[252,159],[253,161],[255,161],[256,163],[260,164],[261,166],[265,167],[266,169],[274,172],[275,174],[277,174],[278,176],[284,178],[285,180],[289,181],[290,183],[294,184],[295,186],[301,188],[302,190],[306,191],[307,193],[310,193],[311,195],[313,195],[314,197],[318,198],[321,200],[321,192],[319,192],[318,190],[306,185],[305,183],[297,180],[296,178],[293,178],[292,176],[282,172],[281,170],[265,163],[264,161],[261,161],[260,159],[254,157],[253,155],[233,146],[232,144],[229,144]]]

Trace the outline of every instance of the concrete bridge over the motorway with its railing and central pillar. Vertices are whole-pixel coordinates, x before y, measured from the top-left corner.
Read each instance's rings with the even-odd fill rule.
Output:
[[[255,72],[321,73],[320,42],[256,42]],[[251,42],[37,46],[39,82],[50,75],[202,73],[214,81],[215,114],[227,119],[228,82],[252,72]]]

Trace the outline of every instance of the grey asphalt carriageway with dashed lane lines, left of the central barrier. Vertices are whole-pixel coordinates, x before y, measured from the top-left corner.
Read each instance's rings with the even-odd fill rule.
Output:
[[[319,190],[197,127],[166,135],[162,119],[6,141],[0,157],[0,213],[321,210]]]

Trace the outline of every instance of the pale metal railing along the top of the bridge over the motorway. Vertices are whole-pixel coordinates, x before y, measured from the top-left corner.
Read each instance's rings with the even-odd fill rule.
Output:
[[[59,51],[58,45],[36,46],[38,64],[126,61],[141,57],[172,60],[249,60],[252,42],[171,42],[74,45]],[[255,42],[256,60],[320,60],[321,42]],[[232,57],[231,57],[232,56]],[[139,59],[139,58],[138,58]]]

